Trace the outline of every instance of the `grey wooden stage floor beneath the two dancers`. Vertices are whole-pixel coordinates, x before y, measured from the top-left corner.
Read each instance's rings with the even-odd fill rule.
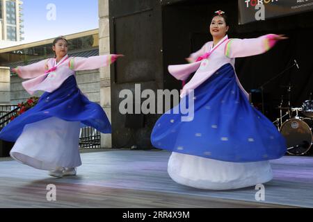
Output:
[[[265,200],[255,187],[209,191],[173,182],[166,151],[81,153],[77,176],[52,178],[0,158],[0,207],[201,208],[313,207],[313,157],[285,156],[271,161],[274,178],[265,185]],[[56,201],[47,200],[47,185],[56,185]]]

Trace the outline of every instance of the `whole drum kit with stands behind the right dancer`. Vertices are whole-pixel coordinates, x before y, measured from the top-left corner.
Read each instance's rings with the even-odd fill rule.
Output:
[[[273,123],[287,142],[287,153],[290,155],[305,155],[313,145],[313,100],[304,101],[301,107],[292,107],[290,102],[291,85],[288,88],[288,103],[284,106],[284,99],[278,106],[280,117]],[[313,149],[313,148],[312,148]]]

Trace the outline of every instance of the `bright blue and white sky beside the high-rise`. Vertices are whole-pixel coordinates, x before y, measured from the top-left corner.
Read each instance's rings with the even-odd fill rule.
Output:
[[[23,0],[22,43],[99,28],[98,0]]]

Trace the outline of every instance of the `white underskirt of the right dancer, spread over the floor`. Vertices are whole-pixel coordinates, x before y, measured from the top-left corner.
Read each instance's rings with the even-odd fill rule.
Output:
[[[168,174],[181,185],[212,190],[251,187],[273,178],[268,161],[224,162],[174,152],[168,161]]]

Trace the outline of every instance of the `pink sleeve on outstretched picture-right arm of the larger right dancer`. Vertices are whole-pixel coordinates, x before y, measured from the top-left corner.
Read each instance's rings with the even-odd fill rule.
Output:
[[[239,58],[255,56],[265,53],[277,42],[275,34],[262,35],[252,39],[230,39],[225,45],[225,56],[228,58]]]

